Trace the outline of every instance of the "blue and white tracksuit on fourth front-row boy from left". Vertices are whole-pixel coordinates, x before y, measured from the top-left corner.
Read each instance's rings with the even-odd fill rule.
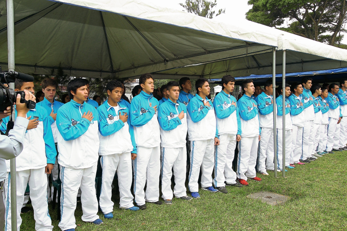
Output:
[[[160,128],[158,113],[153,108],[155,105],[159,106],[158,100],[144,91],[135,96],[130,105],[130,121],[134,127],[137,149],[137,157],[133,161],[137,205],[159,200]]]

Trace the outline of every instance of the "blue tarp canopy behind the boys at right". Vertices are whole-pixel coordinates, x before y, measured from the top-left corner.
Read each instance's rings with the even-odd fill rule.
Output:
[[[322,70],[322,71],[304,71],[304,72],[294,72],[286,73],[286,82],[298,82],[304,76],[310,76],[315,83],[332,83],[339,82],[340,79],[347,77],[347,68],[337,68],[331,70]],[[236,77],[236,85],[241,85],[242,81],[245,79],[253,79],[254,83],[264,83],[268,79],[272,79],[272,74],[251,74],[244,77]],[[221,79],[211,79],[210,82],[218,83]],[[276,83],[282,82],[282,74],[276,74]]]

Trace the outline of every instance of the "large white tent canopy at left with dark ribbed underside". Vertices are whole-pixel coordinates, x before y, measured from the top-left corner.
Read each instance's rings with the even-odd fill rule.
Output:
[[[0,7],[5,16],[6,2]],[[136,77],[190,64],[248,59],[277,47],[277,37],[261,30],[148,1],[15,0],[14,9],[15,68],[24,73]],[[7,17],[0,17],[0,65],[7,68]]]

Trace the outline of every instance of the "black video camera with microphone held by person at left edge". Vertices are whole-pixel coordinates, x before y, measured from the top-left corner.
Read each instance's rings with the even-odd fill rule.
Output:
[[[0,66],[0,112],[6,110],[6,108],[13,103],[16,103],[17,95],[20,95],[20,103],[26,103],[26,107],[34,109],[36,103],[32,100],[25,100],[24,91],[14,91],[7,88],[4,84],[14,83],[15,80],[21,79],[27,82],[33,82],[34,77],[28,74],[23,74],[16,71],[2,71]]]

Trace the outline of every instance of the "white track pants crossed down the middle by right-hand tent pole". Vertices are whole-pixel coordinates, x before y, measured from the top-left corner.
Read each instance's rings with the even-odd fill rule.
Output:
[[[277,134],[276,134],[276,141],[277,141],[277,169],[283,168],[283,130],[282,129],[277,129]],[[292,147],[292,137],[291,137],[291,129],[286,130],[286,136],[285,136],[285,141],[286,141],[286,153],[285,153],[285,165],[289,166],[290,162],[290,154],[291,154],[291,147]]]

